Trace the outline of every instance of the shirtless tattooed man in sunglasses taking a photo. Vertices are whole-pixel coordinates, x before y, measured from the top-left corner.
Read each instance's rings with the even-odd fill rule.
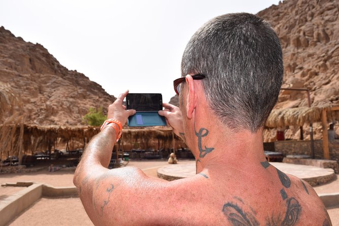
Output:
[[[200,75],[199,75],[200,74]],[[180,108],[165,116],[196,158],[194,177],[166,181],[140,169],[108,170],[119,122],[88,144],[74,174],[95,225],[331,225],[305,181],[270,165],[262,130],[283,77],[282,50],[267,22],[247,14],[216,17],[192,37],[175,81]],[[124,125],[121,94],[108,119]]]

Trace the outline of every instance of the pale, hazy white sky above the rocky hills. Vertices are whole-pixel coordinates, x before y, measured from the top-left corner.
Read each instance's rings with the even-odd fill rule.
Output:
[[[257,13],[278,0],[0,0],[0,26],[43,45],[111,95],[175,95],[183,50],[215,16]]]

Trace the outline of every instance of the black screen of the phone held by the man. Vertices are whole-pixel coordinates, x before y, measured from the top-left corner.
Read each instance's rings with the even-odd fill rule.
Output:
[[[163,108],[160,93],[129,93],[126,96],[126,108],[136,111],[158,111]]]

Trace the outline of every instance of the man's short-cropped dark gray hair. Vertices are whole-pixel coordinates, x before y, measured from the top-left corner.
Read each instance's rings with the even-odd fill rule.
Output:
[[[209,107],[233,131],[262,127],[283,79],[282,49],[270,24],[249,13],[218,16],[187,44],[181,76],[202,73]]]

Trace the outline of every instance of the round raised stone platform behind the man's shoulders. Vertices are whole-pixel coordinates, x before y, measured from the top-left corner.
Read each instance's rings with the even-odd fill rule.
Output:
[[[312,186],[326,183],[335,177],[333,169],[289,163],[270,162],[270,164],[284,173],[294,175],[307,181]],[[157,174],[159,178],[169,181],[191,177],[196,174],[196,163],[164,166],[158,169]]]

